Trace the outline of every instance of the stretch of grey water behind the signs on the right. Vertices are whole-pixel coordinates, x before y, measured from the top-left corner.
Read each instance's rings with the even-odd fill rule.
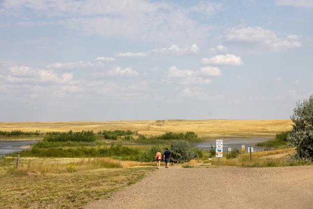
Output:
[[[222,140],[223,140],[223,152],[227,152],[229,147],[231,147],[232,150],[234,148],[241,150],[242,144],[244,144],[246,151],[248,147],[253,147],[253,151],[258,151],[258,150],[263,150],[265,147],[258,147],[258,146],[255,146],[255,144],[259,142],[266,142],[269,140],[269,138],[228,138],[228,139],[222,139]],[[216,139],[208,140],[205,142],[190,143],[190,145],[193,147],[206,149],[206,150],[209,150],[211,148],[211,144],[213,145],[213,147],[215,147]]]

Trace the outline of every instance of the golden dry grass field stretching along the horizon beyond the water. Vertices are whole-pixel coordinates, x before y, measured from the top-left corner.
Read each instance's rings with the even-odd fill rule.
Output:
[[[277,120],[137,120],[137,121],[70,121],[70,122],[0,122],[0,130],[82,131],[131,130],[143,135],[192,131],[199,137],[273,137],[292,128],[289,119]]]

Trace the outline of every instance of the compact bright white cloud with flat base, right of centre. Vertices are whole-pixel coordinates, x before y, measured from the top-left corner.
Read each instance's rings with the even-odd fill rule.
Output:
[[[206,65],[206,64],[242,65],[243,64],[241,57],[235,56],[233,54],[216,55],[214,57],[211,57],[210,59],[203,58],[201,60],[201,63],[203,65]]]

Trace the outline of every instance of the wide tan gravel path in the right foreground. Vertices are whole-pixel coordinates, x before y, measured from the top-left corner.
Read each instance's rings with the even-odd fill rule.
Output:
[[[161,168],[85,208],[313,208],[313,166]]]

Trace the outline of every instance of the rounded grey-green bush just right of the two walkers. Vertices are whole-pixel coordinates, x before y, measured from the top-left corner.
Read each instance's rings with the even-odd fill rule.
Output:
[[[194,158],[194,152],[190,150],[190,145],[185,140],[175,140],[171,145],[172,157],[179,162],[187,162]]]

